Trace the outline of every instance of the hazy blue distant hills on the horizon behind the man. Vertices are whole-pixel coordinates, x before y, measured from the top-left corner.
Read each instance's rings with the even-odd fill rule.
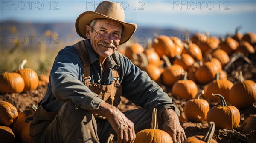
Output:
[[[50,37],[58,36],[58,41],[74,41],[81,39],[75,31],[75,23],[21,23],[17,21],[5,21],[0,23],[1,45],[8,44],[14,39],[21,42],[31,40],[31,43],[49,41],[49,36],[46,37],[45,31],[50,31]],[[183,29],[159,29],[154,27],[137,27],[134,36],[131,38],[135,43],[144,45],[148,37],[153,38],[154,33],[158,35],[175,35],[184,40],[185,30]],[[54,42],[51,40],[50,42]]]

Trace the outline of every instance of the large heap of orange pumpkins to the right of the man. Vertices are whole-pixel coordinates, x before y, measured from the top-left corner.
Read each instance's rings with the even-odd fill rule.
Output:
[[[117,50],[152,80],[172,87],[172,96],[186,100],[184,113],[188,120],[214,122],[218,129],[231,130],[239,126],[239,110],[256,104],[256,83],[244,80],[241,71],[232,83],[225,72],[239,58],[252,63],[247,57],[255,54],[256,34],[242,35],[238,30],[220,40],[209,32],[197,33],[185,41],[155,34],[154,40],[148,39],[146,48],[128,43]],[[198,91],[198,85],[204,89]],[[216,102],[220,105],[210,108],[209,103]],[[247,128],[244,130],[253,127]]]

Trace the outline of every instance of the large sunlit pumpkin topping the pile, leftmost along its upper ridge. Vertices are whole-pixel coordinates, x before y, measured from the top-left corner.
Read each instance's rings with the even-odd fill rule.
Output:
[[[160,57],[166,55],[167,57],[175,57],[175,44],[168,36],[160,35],[154,36],[152,47],[155,49]]]

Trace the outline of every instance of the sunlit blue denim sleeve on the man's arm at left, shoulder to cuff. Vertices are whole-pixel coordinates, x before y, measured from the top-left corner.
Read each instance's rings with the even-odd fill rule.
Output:
[[[85,110],[99,109],[103,100],[79,80],[83,68],[75,51],[62,49],[52,67],[50,85],[56,99],[62,102],[71,100],[78,108]]]

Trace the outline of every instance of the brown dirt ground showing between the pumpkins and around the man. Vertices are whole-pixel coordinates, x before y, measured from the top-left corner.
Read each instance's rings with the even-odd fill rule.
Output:
[[[231,82],[237,81],[237,71],[242,70],[244,73],[245,79],[250,79],[256,82],[256,55],[249,57],[250,60],[253,61],[254,64],[249,64],[244,60],[237,60],[233,63],[229,69],[227,69],[228,80]],[[208,123],[193,123],[189,122],[186,119],[186,116],[183,112],[183,107],[186,103],[185,100],[180,100],[175,97],[172,97],[172,87],[164,86],[162,83],[159,85],[163,88],[163,90],[168,93],[169,97],[172,98],[173,102],[178,106],[180,109],[180,123],[183,129],[185,130],[186,137],[191,137],[193,135],[204,135],[207,130],[209,129]],[[4,94],[0,93],[0,101],[8,101],[12,103],[17,109],[18,112],[22,112],[25,109],[28,109],[31,103],[35,105],[44,97],[46,92],[46,86],[38,86],[38,88],[34,91],[30,92],[22,92],[20,94],[12,93],[12,94]],[[198,85],[198,91],[204,89],[203,85]],[[210,107],[217,105],[218,103],[211,103]],[[126,98],[122,97],[121,104],[118,106],[120,110],[131,110],[138,108],[131,102],[129,102]],[[224,130],[224,129],[215,129],[214,139],[218,141],[218,143],[255,143],[256,140],[256,131],[252,131],[250,134],[245,134],[242,132],[241,124],[244,122],[247,117],[252,114],[256,114],[256,106],[248,106],[245,109],[240,110],[241,114],[241,121],[239,127],[233,130]],[[17,141],[18,143],[20,141]]]

